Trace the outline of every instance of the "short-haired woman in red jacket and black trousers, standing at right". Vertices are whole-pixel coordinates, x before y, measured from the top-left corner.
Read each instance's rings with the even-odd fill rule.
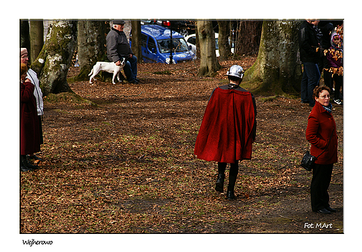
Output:
[[[329,87],[315,87],[313,98],[316,103],[308,117],[306,139],[310,142],[310,154],[317,157],[313,165],[310,199],[313,212],[330,214],[336,212],[329,206],[327,192],[331,182],[333,164],[338,162],[336,122],[331,115],[332,105]],[[324,152],[323,152],[324,151]]]

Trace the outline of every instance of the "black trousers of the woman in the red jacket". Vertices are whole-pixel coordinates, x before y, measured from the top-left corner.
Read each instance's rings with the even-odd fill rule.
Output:
[[[332,169],[333,164],[313,165],[313,178],[310,185],[310,199],[313,212],[329,207],[329,194],[327,190],[329,183],[331,183]]]

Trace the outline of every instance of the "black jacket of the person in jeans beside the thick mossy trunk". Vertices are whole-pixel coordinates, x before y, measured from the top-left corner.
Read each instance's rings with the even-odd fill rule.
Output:
[[[317,32],[313,24],[304,21],[299,28],[299,51],[301,62],[320,62],[321,52],[316,51],[320,47]]]

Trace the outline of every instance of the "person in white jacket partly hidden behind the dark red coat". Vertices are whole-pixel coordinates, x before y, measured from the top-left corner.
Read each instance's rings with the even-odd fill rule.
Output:
[[[20,49],[20,63],[24,63],[28,67],[27,78],[34,85],[34,96],[36,98],[36,110],[38,113],[38,122],[39,122],[40,144],[43,144],[44,140],[42,137],[42,115],[44,115],[44,106],[42,101],[42,90],[40,89],[39,80],[36,72],[34,72],[33,69],[29,68],[29,56],[28,56],[28,50],[26,48]],[[28,158],[31,160],[42,161],[41,158],[38,158],[38,156],[36,156],[36,153],[29,154]]]

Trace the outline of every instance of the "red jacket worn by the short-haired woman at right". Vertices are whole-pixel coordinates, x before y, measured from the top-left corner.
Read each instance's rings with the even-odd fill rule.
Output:
[[[326,111],[319,102],[316,102],[308,117],[306,130],[306,138],[312,144],[310,154],[317,157],[328,145],[326,151],[315,160],[316,164],[331,165],[338,162],[338,137],[336,131],[336,122],[331,113]]]

